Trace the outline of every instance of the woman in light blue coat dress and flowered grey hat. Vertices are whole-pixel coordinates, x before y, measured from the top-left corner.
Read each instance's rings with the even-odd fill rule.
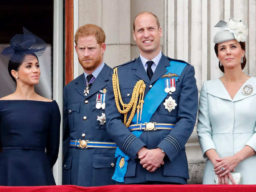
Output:
[[[224,75],[204,82],[199,99],[197,133],[207,159],[203,184],[214,184],[215,175],[217,184],[256,184],[256,78],[242,71],[248,29],[233,19],[215,27],[221,27],[214,50]]]

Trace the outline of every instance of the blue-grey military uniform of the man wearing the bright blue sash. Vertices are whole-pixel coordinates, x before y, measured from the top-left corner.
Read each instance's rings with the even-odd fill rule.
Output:
[[[142,79],[145,82],[145,94],[147,94],[152,85],[154,86],[154,83],[166,74],[166,67],[170,66],[170,61],[172,60],[174,59],[170,59],[162,54],[151,80],[147,76],[140,57],[119,66],[118,78],[123,102],[129,103],[133,87],[138,80]],[[174,61],[186,63],[181,60]],[[175,128],[171,131],[145,131],[139,138],[135,137],[123,124],[124,115],[120,114],[116,108],[113,87],[110,86],[112,81],[110,80],[109,97],[107,99],[108,106],[106,106],[106,117],[108,119],[107,131],[120,150],[130,158],[124,177],[124,184],[144,183],[148,181],[187,184],[189,174],[185,144],[193,131],[198,108],[198,91],[194,75],[194,67],[187,63],[176,81],[176,91],[172,94],[167,94],[165,98],[168,99],[171,96],[175,99],[177,106],[169,113],[165,109],[165,105],[163,105],[165,102],[165,99],[163,99],[150,119],[150,122],[176,124]],[[157,96],[156,94],[155,97]],[[164,165],[157,168],[154,172],[148,172],[144,169],[140,165],[137,156],[137,152],[143,146],[148,149],[161,148],[166,153],[163,159]]]

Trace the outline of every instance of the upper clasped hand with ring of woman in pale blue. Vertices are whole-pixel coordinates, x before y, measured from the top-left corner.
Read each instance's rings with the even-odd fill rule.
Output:
[[[218,161],[218,163],[216,163],[213,168],[215,174],[219,175],[220,177],[223,177],[226,174],[230,173],[230,171],[234,170],[239,163],[237,159],[235,159],[233,156],[219,158],[216,159],[216,161]]]

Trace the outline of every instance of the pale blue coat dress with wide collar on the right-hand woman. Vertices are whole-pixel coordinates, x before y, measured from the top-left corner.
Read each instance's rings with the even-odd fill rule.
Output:
[[[250,84],[253,91],[244,95],[242,89]],[[200,98],[197,134],[206,158],[203,184],[214,184],[213,164],[205,156],[209,149],[229,157],[245,145],[256,150],[256,78],[249,78],[231,99],[220,79],[204,82]],[[256,184],[256,156],[241,161],[236,172],[242,175],[243,184]]]

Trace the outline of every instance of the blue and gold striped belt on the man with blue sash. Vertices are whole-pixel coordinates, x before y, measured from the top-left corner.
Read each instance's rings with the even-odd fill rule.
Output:
[[[169,123],[140,123],[129,125],[129,131],[157,131],[157,130],[172,130],[175,124]]]

